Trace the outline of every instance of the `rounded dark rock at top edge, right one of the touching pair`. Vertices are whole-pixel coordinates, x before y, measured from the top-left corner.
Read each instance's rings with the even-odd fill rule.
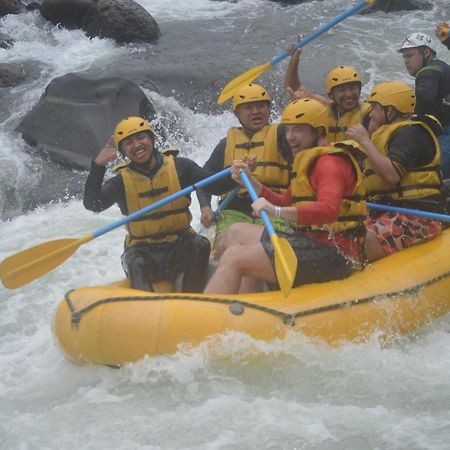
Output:
[[[98,0],[86,14],[83,30],[89,37],[120,43],[155,42],[160,36],[155,19],[133,0]]]

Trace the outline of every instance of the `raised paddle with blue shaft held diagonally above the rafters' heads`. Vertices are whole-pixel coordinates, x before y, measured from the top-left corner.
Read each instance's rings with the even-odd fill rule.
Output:
[[[348,16],[351,16],[355,12],[360,11],[366,5],[370,5],[370,4],[374,3],[375,1],[376,0],[360,0],[355,6],[352,6],[347,11],[343,12],[342,14],[339,14],[336,18],[334,18],[330,22],[326,23],[325,25],[322,25],[317,30],[308,34],[308,36],[306,36],[300,42],[295,44],[293,48],[296,50],[300,47],[303,47],[304,45],[306,45],[309,42],[311,42],[312,40],[314,40],[316,37],[320,36],[325,31],[328,31],[330,28],[334,27],[339,22],[342,22]],[[272,58],[272,60],[269,61],[268,63],[253,67],[252,69],[247,70],[247,72],[244,72],[243,74],[234,78],[223,88],[222,92],[219,95],[217,103],[219,103],[219,105],[221,105],[222,103],[227,101],[229,98],[233,97],[233,95],[236,93],[236,91],[243,84],[248,84],[248,83],[251,83],[253,80],[256,80],[256,78],[258,78],[260,75],[262,75],[268,69],[270,69],[272,66],[279,63],[280,61],[282,61],[284,58],[287,58],[288,56],[289,56],[288,51],[280,53],[278,56],[275,56],[274,58]]]

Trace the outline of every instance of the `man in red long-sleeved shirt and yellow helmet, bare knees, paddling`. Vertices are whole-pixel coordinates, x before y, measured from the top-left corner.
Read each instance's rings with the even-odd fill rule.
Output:
[[[290,103],[282,124],[294,156],[293,176],[285,194],[278,194],[251,176],[247,163],[233,163],[233,178],[245,170],[257,194],[253,214],[291,221],[293,230],[278,233],[294,249],[298,268],[294,286],[346,278],[364,262],[367,215],[363,175],[349,142],[326,141],[327,108],[314,99]],[[355,143],[356,145],[356,143]],[[205,292],[239,292],[245,276],[276,283],[274,249],[260,225],[237,223],[226,232],[225,252]],[[242,292],[242,291],[241,291]]]

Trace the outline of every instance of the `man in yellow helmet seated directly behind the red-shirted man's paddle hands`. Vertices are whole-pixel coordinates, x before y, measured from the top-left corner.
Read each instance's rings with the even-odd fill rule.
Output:
[[[267,90],[255,83],[244,85],[233,97],[233,112],[240,127],[228,130],[212,152],[204,168],[214,173],[231,165],[233,160],[256,156],[255,177],[277,192],[289,185],[291,154],[279,124],[269,124],[271,97]],[[201,222],[205,227],[213,223],[211,197],[198,192]],[[216,257],[222,253],[222,234],[235,222],[262,223],[252,216],[252,201],[245,188],[222,211],[216,227]],[[274,221],[277,230],[286,229],[286,221]]]

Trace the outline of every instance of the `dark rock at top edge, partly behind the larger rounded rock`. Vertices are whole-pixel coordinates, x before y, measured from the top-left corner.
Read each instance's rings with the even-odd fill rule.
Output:
[[[55,25],[68,29],[81,28],[88,10],[97,0],[44,0],[39,10]]]

